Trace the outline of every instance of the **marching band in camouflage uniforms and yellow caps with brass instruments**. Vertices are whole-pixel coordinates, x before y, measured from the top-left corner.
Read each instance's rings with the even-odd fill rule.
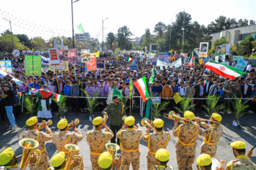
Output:
[[[117,103],[119,104],[119,103]],[[122,109],[119,111],[122,112]],[[148,153],[146,155],[147,169],[167,170],[173,169],[167,165],[170,153],[166,147],[170,141],[171,135],[164,131],[164,120],[156,118],[151,121],[147,118],[142,119],[142,125],[148,126],[146,132],[142,132],[135,126],[135,118],[133,116],[122,116],[124,124],[117,132],[119,145],[109,143],[114,137],[112,130],[106,125],[109,118],[105,112],[103,118],[101,116],[92,120],[94,130],[89,130],[86,134],[87,144],[90,146],[90,160],[92,162],[92,170],[100,169],[124,169],[129,170],[130,164],[132,169],[139,170],[140,152],[139,143],[141,139],[147,142]],[[196,167],[198,170],[223,170],[220,162],[215,159],[217,143],[223,134],[221,125],[221,115],[213,113],[210,120],[195,117],[191,111],[186,111],[184,117],[171,111],[168,116],[174,120],[173,135],[177,137],[176,141],[176,161],[178,170],[192,169],[194,160],[196,159],[196,141],[198,135],[203,137],[201,145],[201,155],[196,159]],[[110,117],[111,118],[111,117]],[[210,123],[207,124],[206,122]],[[58,132],[53,132],[48,128],[52,122],[38,123],[36,116],[26,121],[28,130],[22,132],[19,145],[23,147],[21,164],[18,167],[17,158],[14,151],[9,147],[0,153],[0,169],[30,169],[48,170],[48,169],[84,169],[82,156],[79,152],[78,142],[83,139],[82,133],[75,128],[79,123],[76,119],[68,124],[68,120],[63,118],[58,124]],[[181,125],[178,125],[181,123]],[[103,126],[105,131],[102,130]],[[201,128],[203,127],[203,128]],[[46,132],[42,132],[44,128]],[[69,130],[73,129],[74,132]],[[154,132],[150,132],[154,130]],[[46,151],[45,142],[53,140],[54,145],[58,149],[58,154],[49,160]],[[235,161],[228,162],[227,170],[256,170],[255,164],[250,157],[245,156],[245,142],[236,141],[230,144],[233,147]],[[121,150],[122,154],[117,154],[117,150]],[[249,150],[250,155],[252,150]],[[51,167],[50,167],[51,165]],[[142,168],[141,168],[142,169]]]

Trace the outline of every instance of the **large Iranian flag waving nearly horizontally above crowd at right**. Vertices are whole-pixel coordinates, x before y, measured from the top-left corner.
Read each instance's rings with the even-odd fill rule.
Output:
[[[215,72],[215,74],[219,74],[220,76],[228,79],[235,79],[235,77],[240,77],[245,74],[244,72],[241,72],[239,69],[235,69],[234,67],[222,64],[220,62],[210,61],[204,64],[203,66]]]

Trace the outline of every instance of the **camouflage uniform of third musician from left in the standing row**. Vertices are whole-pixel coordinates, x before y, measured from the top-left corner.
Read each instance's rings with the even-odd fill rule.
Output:
[[[97,161],[100,154],[107,151],[105,145],[114,137],[113,132],[102,132],[102,130],[90,130],[86,134],[86,141],[90,145],[90,159],[92,162],[92,170],[100,170]]]

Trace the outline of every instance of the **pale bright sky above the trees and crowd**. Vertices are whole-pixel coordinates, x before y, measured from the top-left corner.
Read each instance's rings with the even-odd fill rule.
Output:
[[[75,0],[73,0],[75,1]],[[132,37],[140,37],[156,23],[166,25],[176,21],[176,14],[186,11],[192,21],[208,26],[218,16],[256,20],[256,0],[80,0],[73,3],[74,30],[82,23],[91,38],[102,41],[107,33],[117,33],[127,26]],[[26,34],[29,38],[41,36],[49,39],[58,35],[72,37],[71,0],[0,0],[0,33],[10,28],[14,34]],[[185,26],[186,27],[186,26]]]

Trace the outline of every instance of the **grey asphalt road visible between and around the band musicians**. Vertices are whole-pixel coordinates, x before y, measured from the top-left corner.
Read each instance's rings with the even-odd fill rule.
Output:
[[[143,132],[146,131],[146,127],[142,127],[140,124],[140,120],[142,119],[139,116],[139,113],[133,113],[134,117],[136,118],[136,125],[143,130]],[[100,115],[100,114],[97,114]],[[201,118],[206,118],[204,115],[197,115]],[[22,153],[22,148],[18,145],[18,140],[21,139],[20,134],[24,130],[27,129],[25,126],[26,120],[29,118],[28,115],[23,115],[22,118],[17,120],[18,129],[15,132],[10,132],[10,129],[7,130],[6,123],[0,124],[0,152],[4,150],[6,147],[11,147],[14,149],[14,152],[16,155]],[[75,118],[80,119],[80,124],[77,125],[78,130],[82,132],[82,135],[84,135],[84,138],[81,142],[78,143],[78,147],[80,147],[80,152],[82,153],[83,162],[85,165],[85,169],[92,169],[91,168],[91,162],[90,162],[90,152],[89,152],[89,146],[86,142],[85,134],[88,130],[92,130],[93,126],[92,123],[90,123],[88,114],[85,113],[78,113],[78,115],[75,115],[75,113],[68,113],[67,119],[70,122],[71,120],[75,120]],[[54,116],[53,118],[53,125],[50,125],[50,129],[55,132],[58,129],[56,128],[56,124],[58,123],[58,120],[60,118]],[[166,118],[163,118],[164,120],[164,130],[170,132],[171,134],[171,141],[169,142],[169,145],[167,146],[167,149],[171,153],[170,159],[169,159],[169,165],[173,166],[174,169],[177,169],[176,164],[176,149],[175,144],[177,138],[172,135],[172,128],[174,127],[174,121],[168,120]],[[220,137],[220,140],[218,142],[218,150],[216,154],[216,158],[218,160],[223,159],[226,163],[230,160],[235,159],[232,148],[229,146],[231,142],[234,142],[236,140],[242,140],[246,143],[246,149],[252,148],[253,145],[255,145],[256,142],[256,115],[255,114],[246,114],[240,118],[240,125],[241,128],[234,128],[232,125],[233,116],[232,115],[223,115],[223,136]],[[107,121],[108,123],[108,121]],[[197,144],[196,144],[196,157],[200,154],[200,146],[203,142],[203,137],[198,137]],[[46,142],[46,150],[48,151],[49,158],[53,157],[53,155],[56,154],[57,150],[55,145],[53,145],[53,142]],[[148,152],[147,149],[147,143],[141,140],[139,145],[139,151],[141,152],[141,158],[140,158],[140,169],[144,170],[146,169],[146,153]],[[18,160],[19,162],[20,160]],[[252,154],[252,161],[256,162],[256,151]],[[225,164],[224,164],[225,166]],[[132,166],[130,166],[130,169],[132,169]],[[196,169],[196,159],[193,164],[193,169]]]

